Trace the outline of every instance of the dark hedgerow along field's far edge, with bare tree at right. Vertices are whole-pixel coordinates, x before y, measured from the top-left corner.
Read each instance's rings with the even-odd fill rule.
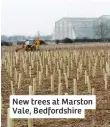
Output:
[[[58,43],[75,43],[75,42],[110,42],[110,24],[107,24],[107,22],[101,22],[98,25],[95,25],[93,27],[94,30],[94,35],[96,36],[96,39],[90,39],[90,38],[82,38],[82,39],[70,39],[70,38],[65,38],[63,40],[52,40],[56,44]],[[46,44],[46,41],[40,40],[41,45]],[[49,41],[49,40],[48,40]],[[25,44],[25,41],[18,41],[17,45],[22,45]],[[1,46],[11,46],[13,45],[12,42],[6,42],[6,41],[1,41]]]

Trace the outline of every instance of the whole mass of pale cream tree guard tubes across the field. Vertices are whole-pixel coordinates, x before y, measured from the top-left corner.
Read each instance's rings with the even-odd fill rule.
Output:
[[[30,78],[29,94],[36,95],[37,87],[43,85],[43,79],[49,81],[49,89],[57,94],[68,95],[68,88],[72,87],[72,94],[78,94],[78,81],[83,80],[87,88],[85,93],[96,94],[96,88],[91,81],[101,75],[104,81],[104,90],[108,89],[110,76],[110,51],[108,50],[61,50],[42,52],[4,52],[2,66],[7,71],[11,84],[11,94],[15,95],[15,85],[18,90],[23,85],[25,78]],[[100,73],[100,74],[99,74]],[[70,79],[72,83],[70,84]],[[62,90],[65,87],[65,92]],[[9,118],[7,110],[7,127],[14,126],[14,120]],[[33,126],[33,119],[28,119],[28,127]]]

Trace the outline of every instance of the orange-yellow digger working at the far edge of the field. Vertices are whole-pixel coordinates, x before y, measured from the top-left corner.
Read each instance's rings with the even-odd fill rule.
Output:
[[[40,40],[39,40],[39,37],[37,37],[36,40],[33,41],[32,45],[24,44],[21,48],[17,48],[16,52],[18,52],[19,50],[36,51],[36,50],[39,50],[39,46],[40,46]]]

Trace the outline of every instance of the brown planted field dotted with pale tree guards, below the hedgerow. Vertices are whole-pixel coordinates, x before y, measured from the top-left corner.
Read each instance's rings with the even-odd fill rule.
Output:
[[[85,119],[33,119],[33,127],[110,127],[110,44],[61,44],[41,46],[37,52],[1,49],[2,127],[7,126],[9,96],[96,95],[96,110]],[[76,81],[76,84],[74,83]],[[14,127],[28,127],[15,119]]]

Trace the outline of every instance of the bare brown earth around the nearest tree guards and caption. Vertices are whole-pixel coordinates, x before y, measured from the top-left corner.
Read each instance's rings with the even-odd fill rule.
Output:
[[[91,47],[86,47],[85,50],[91,49]],[[43,49],[43,48],[42,48]],[[51,50],[51,48],[49,48]],[[82,49],[82,48],[81,48]],[[98,49],[110,49],[110,47],[98,47]],[[96,49],[96,50],[98,50]],[[78,49],[79,50],[79,49]],[[86,67],[85,67],[86,68]],[[76,70],[75,66],[73,70]],[[32,77],[35,76],[35,70],[32,71]],[[64,79],[62,78],[63,83],[63,94],[68,92],[72,94],[72,81],[75,74],[73,71],[70,73],[69,77],[69,89],[66,90],[64,85]],[[104,90],[104,80],[102,73],[97,71],[95,78],[90,77],[92,87],[96,89],[96,98],[97,98],[97,108],[93,112],[92,110],[86,110],[85,119],[34,119],[34,127],[110,127],[110,77],[108,78],[108,90]],[[28,86],[32,84],[32,80],[23,75],[23,81],[21,89],[17,89],[15,85],[15,91],[18,95],[28,94]],[[55,93],[57,94],[57,80],[55,80]],[[77,82],[78,85],[78,94],[88,94],[87,86],[84,85],[83,75],[80,77]],[[1,92],[3,98],[3,110],[2,110],[2,120],[1,127],[6,127],[7,124],[7,108],[9,107],[9,96],[11,95],[11,85],[10,77],[6,72],[4,65],[1,70]],[[36,94],[53,94],[50,90],[50,79],[44,77],[42,80],[41,88],[37,88]],[[28,127],[27,119],[15,119],[15,127]]]

